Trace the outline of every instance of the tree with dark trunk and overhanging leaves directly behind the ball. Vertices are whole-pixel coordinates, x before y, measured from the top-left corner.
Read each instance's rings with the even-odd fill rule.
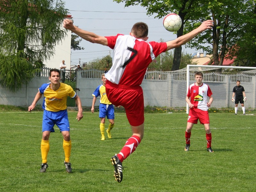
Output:
[[[198,10],[198,1],[195,0],[114,0],[117,3],[125,2],[125,6],[138,5],[146,7],[147,14],[152,15],[157,14],[156,18],[162,18],[169,12],[176,12],[182,20],[182,26],[177,31],[177,37],[183,35],[184,24],[187,20],[192,17],[198,17],[201,15],[202,10]],[[177,47],[174,49],[173,65],[172,71],[178,70],[180,68],[180,59],[182,54],[182,47]]]

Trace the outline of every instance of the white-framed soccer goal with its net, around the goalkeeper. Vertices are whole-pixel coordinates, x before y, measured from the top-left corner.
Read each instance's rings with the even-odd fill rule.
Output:
[[[215,72],[221,69],[221,72]],[[185,101],[190,84],[195,83],[195,72],[201,71],[203,82],[208,84],[213,93],[210,110],[215,112],[234,112],[235,104],[231,101],[236,81],[241,81],[246,94],[244,104],[246,113],[255,113],[256,109],[256,68],[233,66],[204,66],[188,65],[187,68],[169,72],[167,75],[167,113],[186,112],[188,105]],[[208,98],[209,101],[209,98]],[[241,111],[238,104],[238,113]]]

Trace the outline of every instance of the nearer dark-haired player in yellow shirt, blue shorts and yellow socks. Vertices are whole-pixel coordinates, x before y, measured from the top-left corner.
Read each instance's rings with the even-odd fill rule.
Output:
[[[54,132],[53,126],[56,124],[63,135],[63,149],[65,153],[64,165],[68,173],[72,172],[71,163],[69,162],[71,155],[71,139],[69,133],[69,121],[67,112],[67,97],[74,98],[78,106],[76,119],[80,121],[83,118],[83,109],[81,100],[71,86],[60,83],[60,70],[51,69],[49,72],[50,83],[43,84],[38,90],[33,103],[28,107],[31,112],[42,95],[44,101],[42,108],[44,109],[42,123],[42,141],[41,154],[42,164],[40,172],[46,172],[48,167],[47,156],[50,150],[49,137]]]

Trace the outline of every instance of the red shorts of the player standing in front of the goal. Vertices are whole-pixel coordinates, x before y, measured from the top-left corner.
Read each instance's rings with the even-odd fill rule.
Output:
[[[210,119],[209,119],[208,111],[203,111],[198,108],[189,109],[188,122],[197,124],[198,119],[201,124],[209,124]]]

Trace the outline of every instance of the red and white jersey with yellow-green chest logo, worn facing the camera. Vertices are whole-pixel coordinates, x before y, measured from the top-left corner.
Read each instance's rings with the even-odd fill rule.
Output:
[[[191,84],[188,89],[187,96],[190,97],[190,102],[195,106],[195,108],[207,111],[207,96],[210,97],[212,91],[207,84],[202,84],[201,86],[196,86],[196,83]]]

